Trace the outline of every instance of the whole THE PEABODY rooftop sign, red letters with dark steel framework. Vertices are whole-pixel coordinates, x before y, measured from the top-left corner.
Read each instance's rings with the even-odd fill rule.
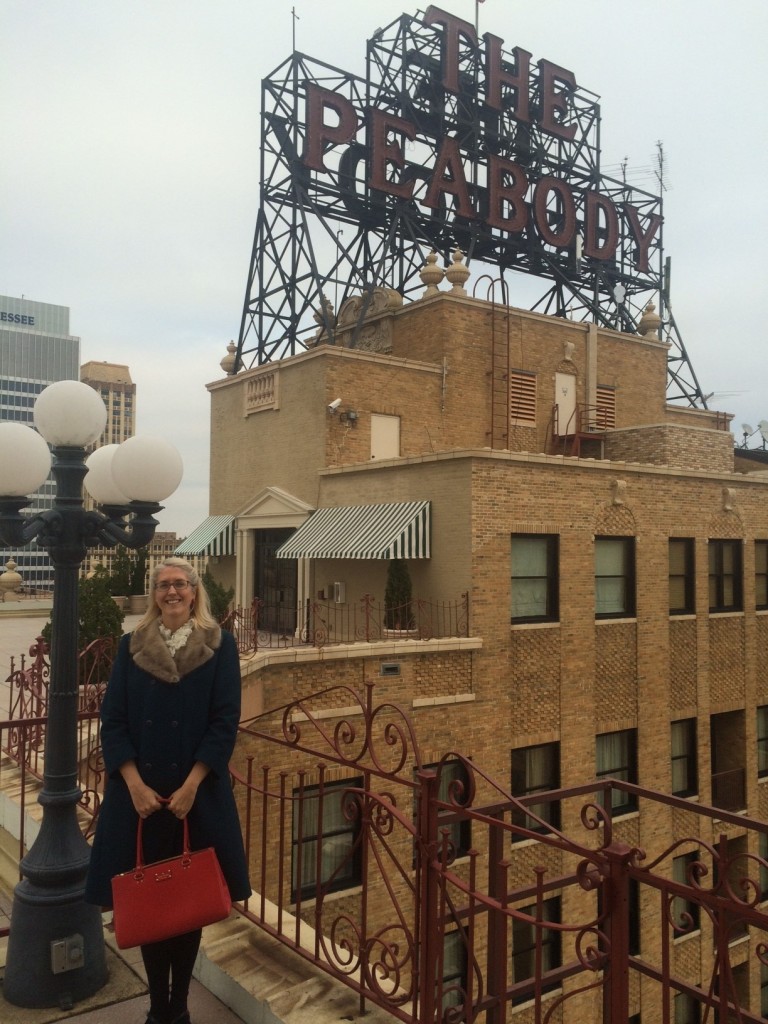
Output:
[[[294,51],[262,82],[260,205],[238,368],[302,351],[431,250],[526,275],[532,309],[670,342],[668,397],[706,407],[668,307],[660,196],[600,169],[598,97],[431,6],[368,41],[366,77]],[[517,279],[519,281],[519,279]],[[515,294],[514,291],[511,294]]]

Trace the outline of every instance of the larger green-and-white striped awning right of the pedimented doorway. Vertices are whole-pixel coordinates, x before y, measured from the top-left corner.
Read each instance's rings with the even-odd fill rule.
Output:
[[[317,509],[278,558],[429,558],[429,502]]]

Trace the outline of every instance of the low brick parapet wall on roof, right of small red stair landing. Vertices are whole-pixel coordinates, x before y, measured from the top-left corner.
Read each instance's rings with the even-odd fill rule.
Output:
[[[605,434],[605,458],[616,462],[732,473],[733,437],[726,430],[683,427],[675,423],[610,430]]]

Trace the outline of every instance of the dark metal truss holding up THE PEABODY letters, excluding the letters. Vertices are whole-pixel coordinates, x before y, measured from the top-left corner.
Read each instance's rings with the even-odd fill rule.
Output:
[[[449,90],[443,85],[442,32],[423,18],[421,13],[402,14],[374,33],[365,79],[294,52],[263,80],[260,207],[238,367],[302,351],[318,326],[333,343],[335,313],[347,298],[368,298],[382,286],[403,298],[420,294],[419,271],[427,255],[434,250],[450,263],[459,246],[468,264],[480,264],[479,269],[490,269],[502,281],[518,273],[527,276],[528,288],[539,281],[541,294],[530,308],[542,312],[634,332],[643,309],[654,301],[663,317],[663,337],[670,343],[668,398],[706,408],[666,305],[662,227],[648,246],[642,269],[635,265],[637,241],[626,216],[620,217],[610,259],[582,254],[589,191],[599,193],[618,211],[631,207],[638,223],[658,218],[660,224],[663,216],[660,197],[601,173],[598,97],[582,87],[570,92],[565,124],[574,129],[572,138],[544,131],[536,118],[542,109],[543,72],[531,63],[529,121],[518,120],[510,102],[502,111],[493,110],[484,100],[482,48],[472,32],[459,36],[457,88]],[[489,45],[492,37],[484,38]],[[518,49],[505,51],[505,70],[514,72],[525,56]],[[350,104],[358,124],[348,144],[326,147],[322,171],[303,159],[307,96],[313,85]],[[403,140],[406,163],[399,173],[399,181],[414,182],[408,199],[369,183],[366,133],[373,111],[414,126],[413,138]],[[462,164],[469,169],[471,216],[461,215],[450,187],[440,194],[439,209],[424,204],[445,138],[456,140]],[[548,176],[567,182],[579,225],[572,242],[561,247],[545,241],[536,229],[532,209],[526,226],[515,233],[487,223],[492,156],[514,161],[530,182]],[[552,233],[564,228],[567,211],[556,191],[550,193],[540,216]],[[604,223],[597,227],[598,245],[605,232]],[[366,307],[364,301],[360,324]]]

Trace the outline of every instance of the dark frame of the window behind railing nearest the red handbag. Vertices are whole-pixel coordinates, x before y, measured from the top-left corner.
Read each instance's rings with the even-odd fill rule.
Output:
[[[339,795],[339,799],[342,802],[344,800],[344,793],[347,790],[359,788],[362,785],[362,777],[354,776],[353,778],[344,778],[334,781],[323,781],[316,785],[304,785],[296,786],[293,790],[293,814],[291,816],[291,901],[296,903],[299,898],[304,899],[315,899],[319,892],[339,892],[344,889],[352,889],[354,886],[358,886],[362,882],[362,858],[361,858],[361,848],[358,842],[360,833],[360,820],[359,815],[354,815],[352,820],[347,820],[343,815],[344,826],[336,827],[326,830],[322,827],[324,822],[317,822],[317,815],[314,817],[314,830],[311,833],[306,831],[306,827],[302,829],[301,835],[301,845],[303,847],[309,848],[311,844],[316,844],[318,836],[322,837],[324,844],[329,840],[335,839],[339,836],[350,836],[351,837],[351,857],[349,858],[349,866],[346,870],[342,871],[338,878],[336,878],[330,885],[327,883],[333,879],[333,876],[338,870],[340,865],[332,869],[329,872],[329,878],[325,879],[321,877],[317,880],[315,877],[311,878],[309,881],[306,880],[306,876],[303,873],[303,858],[299,857],[299,840],[298,840],[298,828],[297,828],[297,815],[301,812],[302,807],[304,807],[307,801],[319,801],[323,798],[323,810],[324,814],[327,807],[327,801],[329,796],[331,799],[334,798],[335,794]],[[303,803],[302,803],[303,802]],[[317,805],[319,810],[319,803]],[[321,831],[316,830],[317,826],[321,826]],[[315,856],[312,852],[312,856]],[[312,861],[316,863],[316,861]],[[342,859],[341,863],[344,863]],[[301,887],[297,885],[298,872],[301,871]]]

